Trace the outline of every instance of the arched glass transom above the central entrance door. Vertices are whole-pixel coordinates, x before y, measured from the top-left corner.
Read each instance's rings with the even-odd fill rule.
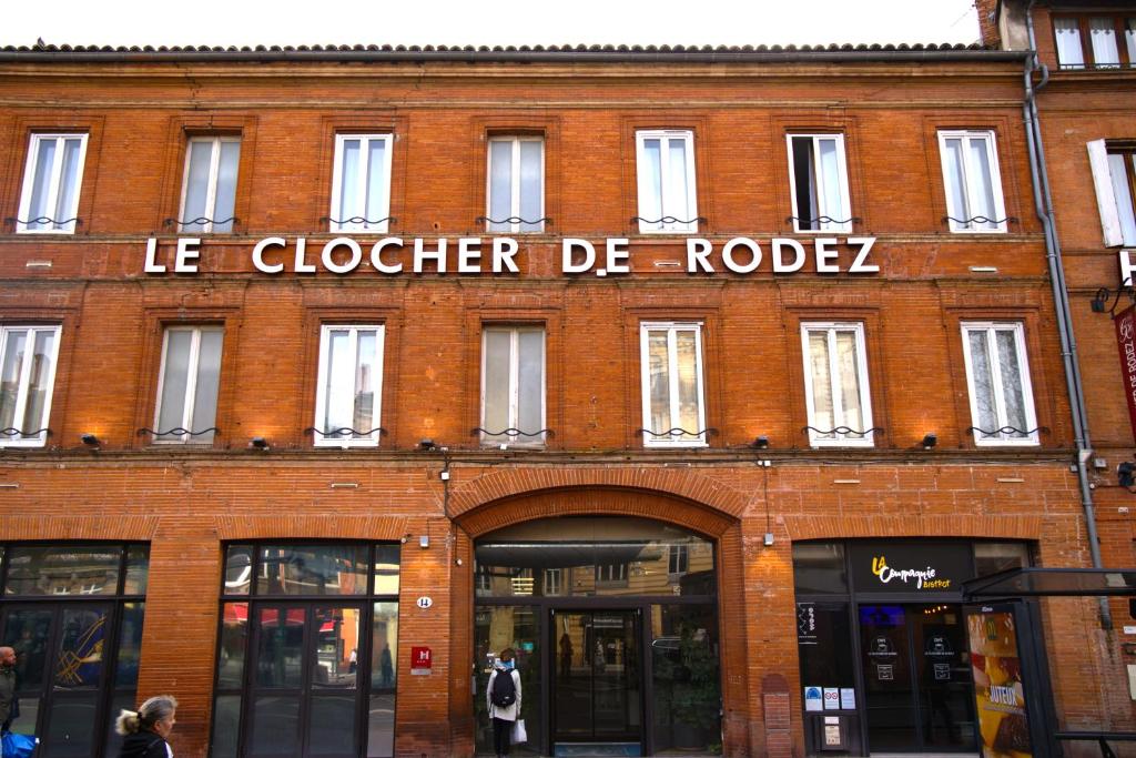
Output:
[[[713,543],[648,519],[527,522],[494,532],[475,555],[481,598],[717,594]]]

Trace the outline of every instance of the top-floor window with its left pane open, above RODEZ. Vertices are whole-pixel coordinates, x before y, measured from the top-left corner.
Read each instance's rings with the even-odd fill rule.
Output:
[[[852,230],[843,134],[788,135],[793,230]]]

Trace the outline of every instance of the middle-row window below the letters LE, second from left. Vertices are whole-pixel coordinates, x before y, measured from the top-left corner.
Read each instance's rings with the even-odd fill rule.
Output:
[[[220,326],[169,326],[161,347],[156,442],[211,444],[220,388]]]

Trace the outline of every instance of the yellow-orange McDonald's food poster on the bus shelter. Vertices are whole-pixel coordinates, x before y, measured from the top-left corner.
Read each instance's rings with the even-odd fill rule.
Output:
[[[1029,758],[1029,719],[1013,614],[983,608],[967,618],[985,758]]]

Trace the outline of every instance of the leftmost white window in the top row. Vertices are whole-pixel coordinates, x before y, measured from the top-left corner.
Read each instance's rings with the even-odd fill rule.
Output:
[[[86,134],[33,134],[16,232],[73,234]]]

